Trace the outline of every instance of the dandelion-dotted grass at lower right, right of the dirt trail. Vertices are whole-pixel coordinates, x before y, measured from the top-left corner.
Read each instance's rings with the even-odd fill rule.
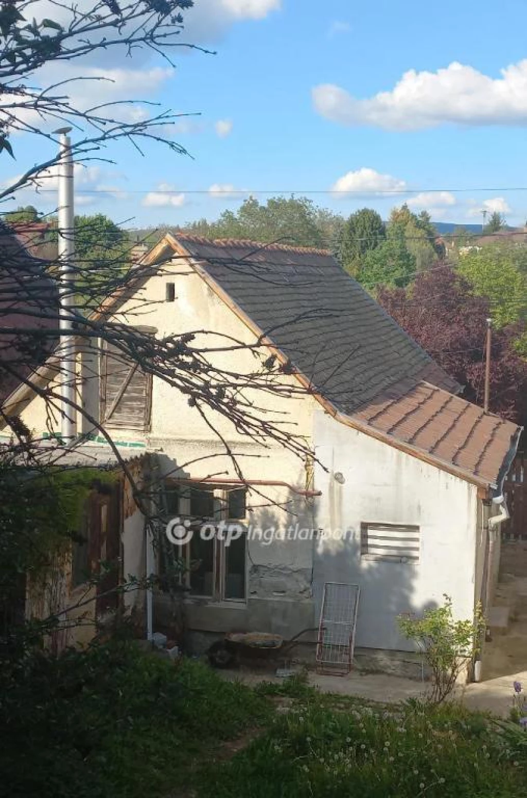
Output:
[[[517,727],[453,704],[354,707],[292,688],[299,700],[263,736],[202,773],[199,798],[237,798],[241,784],[244,798],[525,795],[526,737]]]

